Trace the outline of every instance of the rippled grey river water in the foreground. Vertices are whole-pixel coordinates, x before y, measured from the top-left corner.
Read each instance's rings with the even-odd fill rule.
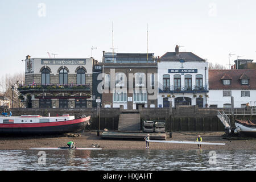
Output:
[[[0,170],[256,170],[255,150],[1,150]]]

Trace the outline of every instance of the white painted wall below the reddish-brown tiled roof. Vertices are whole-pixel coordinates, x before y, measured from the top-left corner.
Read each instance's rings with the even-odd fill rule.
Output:
[[[231,104],[231,97],[223,96],[224,90],[209,91],[209,105],[217,105],[224,107],[226,104]],[[241,97],[241,91],[250,91],[250,97]],[[256,90],[231,90],[234,97],[234,107],[241,108],[242,105],[249,103],[250,106],[256,106]]]

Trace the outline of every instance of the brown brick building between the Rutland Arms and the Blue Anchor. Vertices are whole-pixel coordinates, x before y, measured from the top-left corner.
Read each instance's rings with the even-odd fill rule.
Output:
[[[103,52],[102,107],[138,109],[157,106],[157,63],[154,53]],[[156,81],[155,81],[156,80]]]

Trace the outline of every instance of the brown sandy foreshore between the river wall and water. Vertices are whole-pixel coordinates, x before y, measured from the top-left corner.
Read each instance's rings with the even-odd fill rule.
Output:
[[[256,138],[227,139],[223,137],[224,132],[175,132],[172,138],[167,140],[191,140],[195,141],[200,134],[203,142],[226,143],[225,146],[204,145],[203,150],[256,150]],[[68,141],[74,141],[77,147],[92,147],[98,144],[103,150],[127,150],[145,149],[146,143],[142,140],[102,139],[97,137],[94,131],[81,133],[80,137],[69,135],[56,136],[0,136],[0,150],[28,150],[31,147],[63,147]],[[145,134],[146,136],[146,134]],[[195,144],[173,144],[173,143],[150,143],[151,150],[193,150],[197,149]]]

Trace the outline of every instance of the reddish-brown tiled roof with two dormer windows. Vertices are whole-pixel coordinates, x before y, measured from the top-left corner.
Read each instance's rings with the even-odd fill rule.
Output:
[[[232,78],[230,85],[223,85],[224,75]],[[249,79],[248,85],[242,85],[240,78]],[[210,69],[209,89],[256,89],[256,69]]]

